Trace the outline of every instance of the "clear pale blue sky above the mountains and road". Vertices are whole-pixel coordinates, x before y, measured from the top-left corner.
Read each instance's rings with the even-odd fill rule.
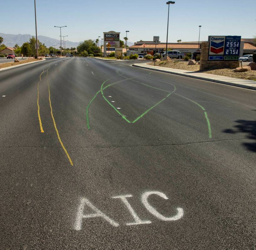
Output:
[[[166,41],[168,6],[165,0],[36,2],[38,35],[59,39],[60,29],[54,25],[67,25],[62,35],[68,35],[68,40],[73,42],[103,37],[102,32],[110,30],[121,32],[122,38],[125,30],[130,30],[130,42],[152,40],[154,35],[160,36],[161,42]],[[200,40],[207,40],[208,35],[253,38],[255,9],[255,0],[177,0],[170,5],[168,42],[198,40],[198,25],[202,25]],[[35,34],[34,0],[1,1],[1,10],[0,33]]]

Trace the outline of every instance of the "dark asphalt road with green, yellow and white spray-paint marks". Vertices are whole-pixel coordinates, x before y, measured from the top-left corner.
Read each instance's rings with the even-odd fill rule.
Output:
[[[130,64],[0,72],[0,249],[256,248],[256,92]]]

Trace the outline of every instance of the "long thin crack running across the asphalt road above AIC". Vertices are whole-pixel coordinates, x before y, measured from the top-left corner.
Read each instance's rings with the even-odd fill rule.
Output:
[[[219,141],[233,141],[233,140],[249,140],[250,138],[237,138],[237,139],[221,139],[221,140],[206,140],[206,141],[195,141],[195,142],[185,142],[185,143],[164,143],[164,144],[137,144],[137,145],[112,145],[112,146],[85,146],[85,147],[66,147],[72,148],[128,148],[128,147],[159,147],[159,146],[179,146],[179,145],[189,145],[189,144],[201,144],[207,142],[219,142]],[[61,148],[54,146],[0,146],[0,148]]]

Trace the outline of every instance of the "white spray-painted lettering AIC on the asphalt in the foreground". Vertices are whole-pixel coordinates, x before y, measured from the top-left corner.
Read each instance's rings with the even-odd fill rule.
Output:
[[[161,221],[176,221],[183,217],[184,211],[182,208],[177,208],[177,213],[174,216],[166,217],[162,214],[160,214],[152,205],[149,204],[148,198],[151,195],[157,195],[161,198],[168,200],[168,197],[159,191],[146,191],[141,195],[141,203],[143,206],[152,214],[154,217],[156,217],[158,220]],[[140,224],[150,224],[150,220],[142,220],[140,217],[138,217],[137,213],[132,208],[131,204],[128,202],[127,198],[133,197],[133,195],[118,195],[113,196],[113,199],[120,199],[125,207],[128,209],[130,214],[133,217],[133,222],[126,223],[127,226],[134,226],[134,225],[140,225]],[[93,212],[89,214],[84,214],[85,207],[89,207]],[[88,199],[81,198],[80,200],[80,206],[78,207],[77,214],[76,214],[76,220],[74,223],[74,229],[75,230],[82,230],[83,227],[83,220],[86,218],[95,218],[95,217],[101,217],[106,222],[108,222],[113,227],[118,227],[119,223],[115,220],[111,219],[109,216],[107,216],[105,213],[101,212],[97,207],[95,207]]]

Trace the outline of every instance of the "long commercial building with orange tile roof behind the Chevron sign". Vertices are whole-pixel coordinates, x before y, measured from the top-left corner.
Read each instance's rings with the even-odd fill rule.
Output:
[[[199,49],[198,49],[198,41],[197,42],[182,42],[182,43],[168,43],[167,49],[168,50],[178,50],[181,53],[191,53],[200,52],[201,50],[201,43],[207,41],[200,41],[199,42]],[[242,38],[241,39],[241,46],[243,46],[243,55],[245,54],[253,54],[256,53],[256,46],[253,43],[253,39]],[[138,41],[134,43],[134,45],[129,47],[127,51],[127,55],[134,54],[134,53],[147,53],[147,54],[154,54],[154,53],[163,53],[166,50],[166,43],[159,43],[154,44],[153,41]]]

